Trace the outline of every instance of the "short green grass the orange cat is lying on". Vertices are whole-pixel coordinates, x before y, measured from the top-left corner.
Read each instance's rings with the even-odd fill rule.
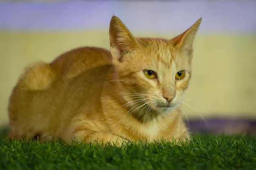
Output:
[[[0,139],[1,170],[255,170],[255,136],[193,135],[192,140],[111,146]]]

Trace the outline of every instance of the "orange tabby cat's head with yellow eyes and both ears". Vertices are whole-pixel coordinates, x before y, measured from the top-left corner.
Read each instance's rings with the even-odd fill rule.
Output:
[[[110,22],[110,51],[124,85],[125,107],[133,114],[166,115],[182,98],[191,77],[192,45],[201,19],[171,39],[135,38],[115,16]]]

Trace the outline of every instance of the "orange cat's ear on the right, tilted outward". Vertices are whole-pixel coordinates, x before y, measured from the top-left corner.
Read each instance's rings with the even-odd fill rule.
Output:
[[[195,24],[193,24],[189,29],[187,29],[184,33],[178,35],[173,38],[173,45],[179,49],[179,51],[183,51],[188,55],[193,51],[193,41],[195,38],[195,34],[198,31],[198,27],[202,21],[200,18]]]

